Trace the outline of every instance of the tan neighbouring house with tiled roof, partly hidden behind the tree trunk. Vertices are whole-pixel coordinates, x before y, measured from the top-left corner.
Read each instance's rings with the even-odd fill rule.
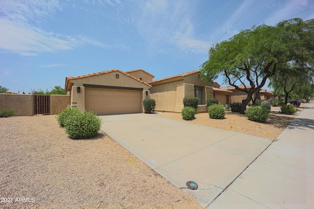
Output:
[[[239,88],[244,89],[251,89],[251,86],[246,85],[238,85]],[[220,89],[229,90],[232,91],[230,94],[230,103],[242,103],[242,100],[245,100],[247,98],[247,94],[243,91],[235,89],[234,86],[226,86],[226,87],[220,87]],[[254,93],[253,98],[255,98],[257,93]],[[274,98],[274,95],[270,91],[266,91],[266,89],[260,90],[260,94],[258,95],[259,100],[268,100]]]

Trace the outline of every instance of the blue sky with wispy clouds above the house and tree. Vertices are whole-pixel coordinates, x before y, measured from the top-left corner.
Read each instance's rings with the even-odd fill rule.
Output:
[[[0,85],[51,90],[116,68],[165,78],[199,69],[241,29],[295,17],[313,19],[314,1],[0,0]]]

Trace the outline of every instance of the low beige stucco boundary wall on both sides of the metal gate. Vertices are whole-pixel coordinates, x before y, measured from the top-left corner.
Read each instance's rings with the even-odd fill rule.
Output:
[[[50,112],[52,115],[66,108],[71,103],[70,95],[51,95]],[[13,109],[15,116],[33,115],[33,95],[31,94],[0,94],[0,109]]]

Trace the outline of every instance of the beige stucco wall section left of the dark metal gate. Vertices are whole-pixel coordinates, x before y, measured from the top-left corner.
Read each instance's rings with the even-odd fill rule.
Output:
[[[33,115],[31,94],[0,94],[0,109],[13,109],[15,116]]]

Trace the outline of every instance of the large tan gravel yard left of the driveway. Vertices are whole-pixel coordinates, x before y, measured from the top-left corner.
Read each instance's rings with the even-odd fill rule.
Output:
[[[12,209],[203,208],[104,132],[70,139],[54,115],[0,118],[0,198]]]

